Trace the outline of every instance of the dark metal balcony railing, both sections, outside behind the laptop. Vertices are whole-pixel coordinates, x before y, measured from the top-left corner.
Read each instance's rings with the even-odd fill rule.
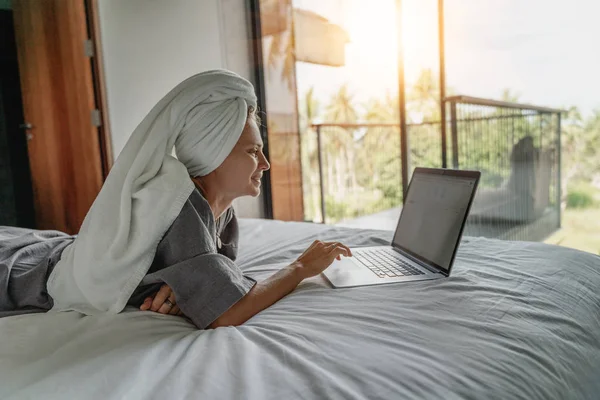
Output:
[[[482,172],[467,235],[541,240],[556,230],[561,110],[466,96],[446,105],[443,128],[407,124],[408,154],[398,124],[311,125],[302,140],[305,219],[336,223],[400,207],[407,157],[408,176],[416,166]]]

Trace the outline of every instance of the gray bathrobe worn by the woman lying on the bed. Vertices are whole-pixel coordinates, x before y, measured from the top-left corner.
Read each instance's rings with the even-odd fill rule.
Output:
[[[52,308],[46,281],[75,238],[58,231],[0,227],[0,317]],[[198,328],[206,328],[256,283],[234,262],[238,240],[233,208],[215,222],[208,202],[194,189],[128,304],[139,307],[166,283],[181,311]]]

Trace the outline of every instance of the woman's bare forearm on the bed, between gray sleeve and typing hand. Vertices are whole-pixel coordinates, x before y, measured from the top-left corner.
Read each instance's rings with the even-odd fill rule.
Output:
[[[254,285],[240,301],[210,324],[210,328],[243,324],[291,293],[303,279],[300,263],[294,262],[288,265],[266,280]]]

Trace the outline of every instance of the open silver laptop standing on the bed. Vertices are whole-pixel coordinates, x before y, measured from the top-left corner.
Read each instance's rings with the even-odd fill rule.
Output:
[[[450,276],[480,175],[415,168],[391,245],[351,248],[324,276],[335,288]]]

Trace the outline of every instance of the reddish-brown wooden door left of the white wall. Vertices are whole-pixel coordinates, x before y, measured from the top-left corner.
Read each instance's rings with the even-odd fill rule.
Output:
[[[76,233],[102,186],[84,0],[13,0],[36,225]]]

